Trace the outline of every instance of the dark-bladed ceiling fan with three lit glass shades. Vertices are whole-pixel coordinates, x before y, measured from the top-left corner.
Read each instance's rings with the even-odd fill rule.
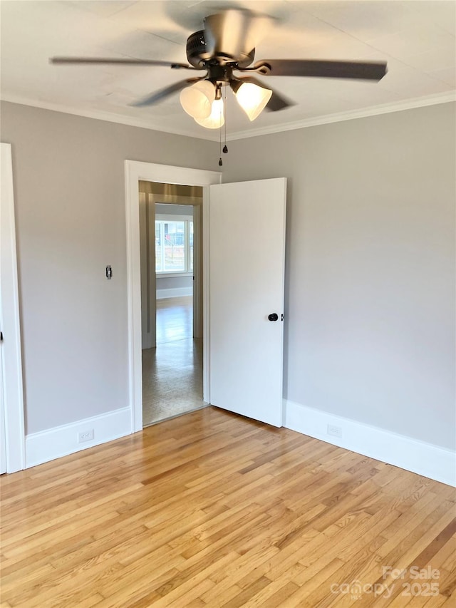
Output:
[[[165,66],[178,70],[204,71],[204,76],[187,78],[133,103],[153,105],[180,91],[182,108],[206,128],[224,123],[222,87],[229,86],[250,120],[262,110],[276,112],[294,105],[256,76],[310,76],[356,78],[380,81],[387,72],[382,61],[319,61],[307,59],[263,59],[253,63],[255,41],[261,16],[242,9],[227,9],[204,19],[204,29],[187,38],[188,63],[148,59],[96,57],[53,57],[51,63],[118,64]]]

